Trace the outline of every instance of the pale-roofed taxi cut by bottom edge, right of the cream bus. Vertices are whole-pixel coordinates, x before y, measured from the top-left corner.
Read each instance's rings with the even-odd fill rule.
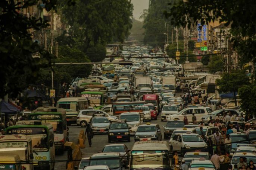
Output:
[[[189,170],[216,170],[215,165],[210,160],[199,158],[199,160],[193,160],[188,166]]]

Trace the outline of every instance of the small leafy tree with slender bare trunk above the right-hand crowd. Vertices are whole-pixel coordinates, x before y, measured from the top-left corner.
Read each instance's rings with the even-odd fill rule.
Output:
[[[216,80],[219,93],[233,93],[235,106],[237,106],[236,93],[240,87],[250,84],[249,77],[244,70],[234,70],[231,73],[222,74],[220,79]]]

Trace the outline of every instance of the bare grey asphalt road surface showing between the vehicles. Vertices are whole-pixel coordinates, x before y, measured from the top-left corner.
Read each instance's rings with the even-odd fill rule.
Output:
[[[163,125],[166,125],[166,122],[161,122],[160,114],[157,117],[157,120],[152,120],[152,123],[157,123],[161,127],[162,131],[162,137],[163,137]],[[144,122],[146,124],[146,122]],[[82,128],[81,126],[69,126],[69,141],[77,143],[78,141],[78,134],[81,130],[85,130],[85,128]],[[165,140],[169,141],[169,140]],[[115,142],[112,142],[114,144]],[[131,142],[119,142],[119,143],[124,143],[127,145],[129,149],[132,148],[134,144],[134,137],[131,137]],[[97,153],[98,151],[102,151],[104,145],[107,145],[108,140],[107,140],[107,134],[102,134],[102,135],[94,135],[92,139],[92,146],[89,147],[88,141],[85,141],[85,148],[81,149],[82,151],[82,157],[90,157],[90,155]],[[66,160],[67,159],[67,153],[64,152],[62,155],[56,155],[56,160]],[[55,169],[65,169],[65,162],[59,162],[55,164]]]

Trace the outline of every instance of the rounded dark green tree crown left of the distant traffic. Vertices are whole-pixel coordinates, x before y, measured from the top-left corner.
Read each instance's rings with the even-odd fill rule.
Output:
[[[99,62],[106,57],[107,50],[105,46],[98,44],[96,46],[88,48],[86,54],[92,62]]]

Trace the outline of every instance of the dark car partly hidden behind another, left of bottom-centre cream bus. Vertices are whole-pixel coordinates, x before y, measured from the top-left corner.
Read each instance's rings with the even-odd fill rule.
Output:
[[[126,164],[126,166],[129,164],[129,149],[125,144],[109,144],[105,145],[102,152],[119,152],[123,163]]]

